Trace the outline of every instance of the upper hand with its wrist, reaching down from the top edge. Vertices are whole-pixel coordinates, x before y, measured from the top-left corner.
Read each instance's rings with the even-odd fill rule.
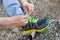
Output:
[[[31,15],[31,13],[34,11],[34,5],[28,3],[27,0],[19,0],[19,1],[22,4],[23,9],[25,10],[25,12],[29,13],[29,15]]]

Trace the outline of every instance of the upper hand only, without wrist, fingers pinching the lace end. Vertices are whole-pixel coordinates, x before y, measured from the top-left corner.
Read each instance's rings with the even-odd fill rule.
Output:
[[[31,15],[31,13],[34,11],[34,5],[30,3],[23,3],[23,9],[25,10],[26,13]]]

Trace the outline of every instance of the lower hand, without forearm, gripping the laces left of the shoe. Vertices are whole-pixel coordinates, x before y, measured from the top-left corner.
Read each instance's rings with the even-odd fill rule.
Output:
[[[25,26],[28,23],[28,16],[26,15],[13,16],[11,20],[13,26]]]

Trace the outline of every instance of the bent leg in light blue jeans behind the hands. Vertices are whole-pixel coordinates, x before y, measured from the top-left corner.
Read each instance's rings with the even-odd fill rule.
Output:
[[[25,14],[18,0],[3,0],[3,7],[8,16],[16,16],[16,15]]]

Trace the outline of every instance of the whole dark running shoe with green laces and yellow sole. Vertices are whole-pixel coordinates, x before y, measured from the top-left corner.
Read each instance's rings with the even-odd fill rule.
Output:
[[[28,23],[26,24],[24,34],[30,34],[31,32],[43,32],[46,30],[51,21],[48,18],[45,19],[38,19],[30,17]]]

